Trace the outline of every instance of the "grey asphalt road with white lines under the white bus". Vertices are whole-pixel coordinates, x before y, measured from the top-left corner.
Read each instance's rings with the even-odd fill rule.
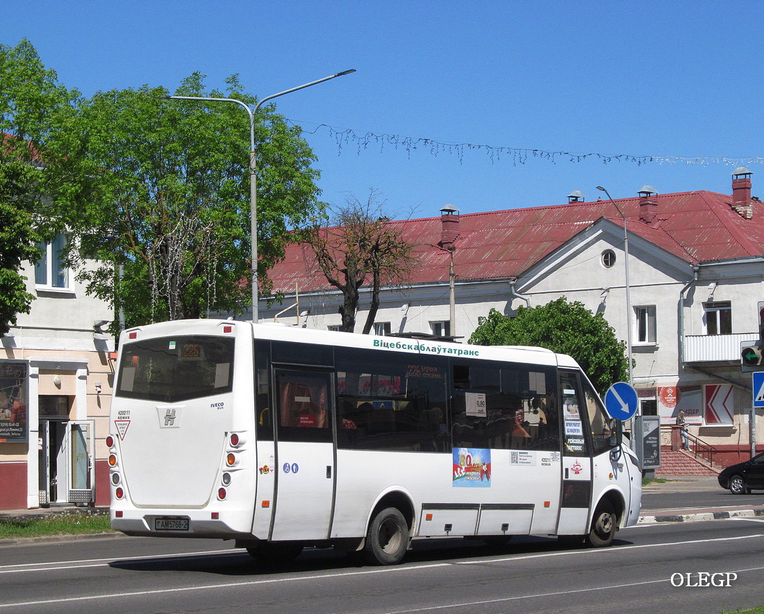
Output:
[[[502,550],[428,540],[396,567],[312,550],[272,569],[222,542],[80,538],[0,548],[0,614],[718,614],[764,603],[762,554],[764,519],[636,526],[600,550],[552,538],[517,538]]]

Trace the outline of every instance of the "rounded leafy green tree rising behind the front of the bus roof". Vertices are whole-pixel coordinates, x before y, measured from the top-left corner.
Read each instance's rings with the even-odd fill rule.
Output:
[[[470,337],[480,346],[539,346],[575,358],[600,393],[628,378],[626,344],[601,313],[560,297],[539,307],[518,307],[516,317],[492,309]]]

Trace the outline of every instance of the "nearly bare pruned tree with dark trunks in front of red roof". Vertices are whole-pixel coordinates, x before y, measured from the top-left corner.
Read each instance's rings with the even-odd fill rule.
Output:
[[[384,213],[384,201],[371,190],[366,202],[349,197],[331,215],[320,217],[306,233],[316,262],[327,281],[342,291],[341,330],[352,333],[361,301],[361,288],[371,286],[371,301],[363,333],[374,326],[383,286],[405,284],[418,259],[414,246],[403,239]]]

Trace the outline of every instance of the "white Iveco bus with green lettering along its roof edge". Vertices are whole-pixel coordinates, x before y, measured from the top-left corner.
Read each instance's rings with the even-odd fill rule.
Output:
[[[617,427],[617,428],[614,428]],[[568,356],[183,320],[121,335],[112,527],[396,564],[413,539],[610,545],[642,475]]]

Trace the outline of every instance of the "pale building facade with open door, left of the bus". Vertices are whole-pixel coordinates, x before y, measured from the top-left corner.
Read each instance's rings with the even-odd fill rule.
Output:
[[[22,271],[36,298],[2,337],[0,510],[109,503],[113,313],[63,265],[65,241]]]

